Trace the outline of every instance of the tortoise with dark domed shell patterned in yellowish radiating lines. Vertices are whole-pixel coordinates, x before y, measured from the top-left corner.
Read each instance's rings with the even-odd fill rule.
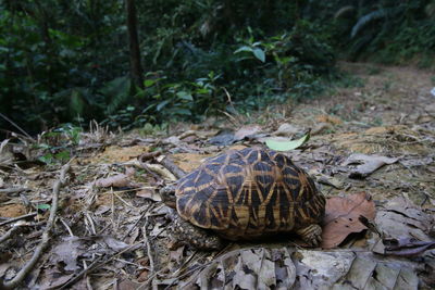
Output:
[[[161,194],[176,209],[174,236],[197,249],[220,249],[221,238],[252,240],[290,231],[309,245],[321,242],[325,198],[303,169],[275,151],[229,150]]]

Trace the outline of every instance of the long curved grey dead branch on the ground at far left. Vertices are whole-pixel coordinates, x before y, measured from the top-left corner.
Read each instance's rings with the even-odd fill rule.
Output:
[[[72,160],[71,160],[72,161]],[[65,175],[70,171],[71,161],[62,166],[59,179],[54,182],[52,191],[52,202],[50,207],[50,216],[47,222],[47,227],[42,232],[42,240],[36,248],[32,259],[24,265],[24,267],[16,274],[16,276],[10,281],[0,280],[0,289],[14,289],[16,288],[27,276],[28,273],[34,268],[35,264],[38,262],[39,257],[42,255],[44,250],[47,248],[50,241],[51,231],[55,222],[55,214],[59,204],[59,191],[61,186],[65,184]]]

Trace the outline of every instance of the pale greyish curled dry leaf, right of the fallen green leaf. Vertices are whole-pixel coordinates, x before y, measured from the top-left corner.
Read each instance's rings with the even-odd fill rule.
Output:
[[[399,159],[391,159],[380,155],[365,155],[365,154],[351,154],[344,163],[344,166],[351,164],[359,164],[352,168],[349,174],[350,178],[365,178],[376,169],[381,168],[385,164],[396,163]]]

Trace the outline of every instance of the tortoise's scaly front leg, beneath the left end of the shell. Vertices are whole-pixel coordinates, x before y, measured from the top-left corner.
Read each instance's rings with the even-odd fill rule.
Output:
[[[179,215],[173,216],[172,231],[174,238],[182,243],[199,250],[219,250],[223,242],[220,237],[184,220]]]

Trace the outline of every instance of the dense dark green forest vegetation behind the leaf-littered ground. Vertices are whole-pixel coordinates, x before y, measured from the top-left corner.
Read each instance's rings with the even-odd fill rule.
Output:
[[[0,0],[0,128],[129,129],[345,83],[337,60],[434,66],[435,0]]]

